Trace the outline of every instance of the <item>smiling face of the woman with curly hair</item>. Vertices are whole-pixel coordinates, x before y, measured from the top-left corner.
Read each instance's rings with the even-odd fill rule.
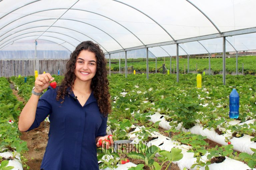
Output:
[[[76,80],[89,81],[96,74],[97,60],[95,53],[88,50],[81,50],[76,58],[75,75]]]

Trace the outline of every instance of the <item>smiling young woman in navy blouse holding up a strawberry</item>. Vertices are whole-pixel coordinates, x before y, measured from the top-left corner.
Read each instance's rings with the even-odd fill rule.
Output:
[[[49,139],[41,169],[99,169],[96,147],[100,146],[99,139],[107,138],[107,117],[111,112],[106,60],[99,45],[80,43],[70,55],[61,85],[49,87],[52,80],[49,73],[38,75],[20,114],[20,131],[37,128],[49,115]],[[110,141],[114,143],[112,137]],[[110,146],[105,145],[107,149]]]

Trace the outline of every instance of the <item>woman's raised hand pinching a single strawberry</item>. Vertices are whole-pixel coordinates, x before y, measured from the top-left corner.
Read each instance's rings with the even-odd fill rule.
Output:
[[[42,92],[44,89],[47,89],[50,85],[50,81],[53,81],[54,77],[50,73],[39,74],[35,81],[34,91],[37,93]]]

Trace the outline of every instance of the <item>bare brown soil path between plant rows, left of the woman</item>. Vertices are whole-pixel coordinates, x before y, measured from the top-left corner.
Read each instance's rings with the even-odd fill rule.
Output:
[[[18,91],[13,90],[13,94],[19,101],[22,101],[24,104],[26,103],[24,99],[18,95]],[[20,138],[27,142],[29,149],[24,153],[24,156],[28,159],[27,165],[30,167],[30,170],[40,170],[48,141],[49,127],[50,124],[48,122],[42,122],[38,128],[28,132],[21,132],[22,135]]]

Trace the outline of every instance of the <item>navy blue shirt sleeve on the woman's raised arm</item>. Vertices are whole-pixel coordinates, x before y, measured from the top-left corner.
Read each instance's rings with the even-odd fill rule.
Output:
[[[47,91],[39,98],[37,108],[36,108],[36,117],[31,125],[31,127],[27,130],[32,130],[34,128],[38,128],[40,123],[45,120],[45,118],[52,112],[52,100],[54,99],[54,90],[48,88]]]

